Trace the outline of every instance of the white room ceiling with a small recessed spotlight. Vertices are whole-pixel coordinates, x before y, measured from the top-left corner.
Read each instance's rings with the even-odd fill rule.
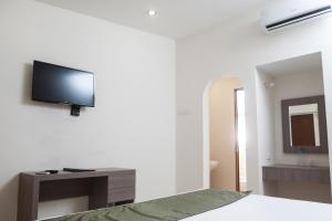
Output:
[[[39,0],[174,39],[199,32],[253,10],[264,0]],[[151,18],[148,10],[156,10]]]

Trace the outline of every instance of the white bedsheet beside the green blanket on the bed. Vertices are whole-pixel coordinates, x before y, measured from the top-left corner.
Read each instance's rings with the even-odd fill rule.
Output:
[[[183,221],[332,221],[332,204],[251,194]]]

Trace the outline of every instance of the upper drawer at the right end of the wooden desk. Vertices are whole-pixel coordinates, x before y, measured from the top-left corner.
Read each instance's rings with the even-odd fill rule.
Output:
[[[134,188],[135,173],[112,175],[108,178],[108,189]]]

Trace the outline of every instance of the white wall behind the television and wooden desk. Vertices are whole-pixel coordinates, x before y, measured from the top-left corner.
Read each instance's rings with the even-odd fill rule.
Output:
[[[71,117],[69,107],[31,102],[33,60],[94,72],[96,107]],[[175,193],[173,40],[1,0],[0,94],[1,220],[15,220],[18,175],[27,170],[135,168],[138,201]]]

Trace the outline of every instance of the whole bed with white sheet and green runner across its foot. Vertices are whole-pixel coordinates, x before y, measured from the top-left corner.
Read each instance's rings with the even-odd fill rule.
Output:
[[[331,221],[332,206],[225,190],[199,190],[44,221]]]

